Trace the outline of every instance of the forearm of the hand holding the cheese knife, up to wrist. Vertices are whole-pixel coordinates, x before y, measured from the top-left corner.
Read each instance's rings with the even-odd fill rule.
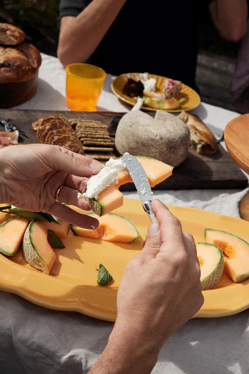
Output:
[[[140,340],[115,324],[105,350],[88,374],[150,374],[158,353],[158,343]]]

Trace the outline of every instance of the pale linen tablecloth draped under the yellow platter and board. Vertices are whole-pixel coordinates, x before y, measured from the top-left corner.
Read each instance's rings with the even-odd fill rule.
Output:
[[[16,109],[66,110],[62,65],[56,58],[42,57],[37,95]],[[112,79],[108,74],[99,109],[128,111],[111,93]],[[193,113],[216,133],[238,115],[204,103]],[[155,191],[154,195],[167,204],[239,217],[238,203],[246,193],[248,189]],[[136,193],[125,196],[137,198]],[[111,322],[45,309],[0,291],[0,374],[87,373],[103,351],[112,327]],[[224,318],[193,319],[165,343],[152,373],[246,374],[248,346],[248,311]]]

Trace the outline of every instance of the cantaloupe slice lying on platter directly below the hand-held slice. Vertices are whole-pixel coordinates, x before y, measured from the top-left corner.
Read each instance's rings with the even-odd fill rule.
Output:
[[[75,235],[119,243],[134,242],[139,236],[134,223],[122,215],[114,213],[108,213],[103,217],[98,217],[94,213],[88,215],[99,220],[99,227],[95,230],[88,230],[72,225],[71,230]]]

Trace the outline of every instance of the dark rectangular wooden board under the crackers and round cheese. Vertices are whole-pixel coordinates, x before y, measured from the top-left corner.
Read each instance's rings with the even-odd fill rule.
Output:
[[[54,111],[66,118],[81,118],[100,120],[110,125],[113,118],[124,113],[112,112],[72,112]],[[46,110],[0,110],[0,117],[17,128],[26,132],[27,138],[20,138],[20,143],[38,143],[31,123],[39,118],[47,117],[51,111]],[[116,125],[109,126],[109,133],[115,136]],[[229,154],[221,145],[215,155],[197,154],[193,148],[189,149],[187,159],[174,169],[173,175],[166,181],[158,184],[158,190],[189,190],[206,188],[246,188],[248,180]],[[120,188],[122,191],[134,191],[134,185],[127,183]]]

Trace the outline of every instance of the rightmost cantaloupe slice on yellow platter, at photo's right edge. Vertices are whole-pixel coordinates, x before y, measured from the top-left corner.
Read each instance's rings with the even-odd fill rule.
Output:
[[[224,253],[225,270],[234,282],[249,277],[249,243],[234,234],[221,230],[205,230],[207,243],[217,245]]]

